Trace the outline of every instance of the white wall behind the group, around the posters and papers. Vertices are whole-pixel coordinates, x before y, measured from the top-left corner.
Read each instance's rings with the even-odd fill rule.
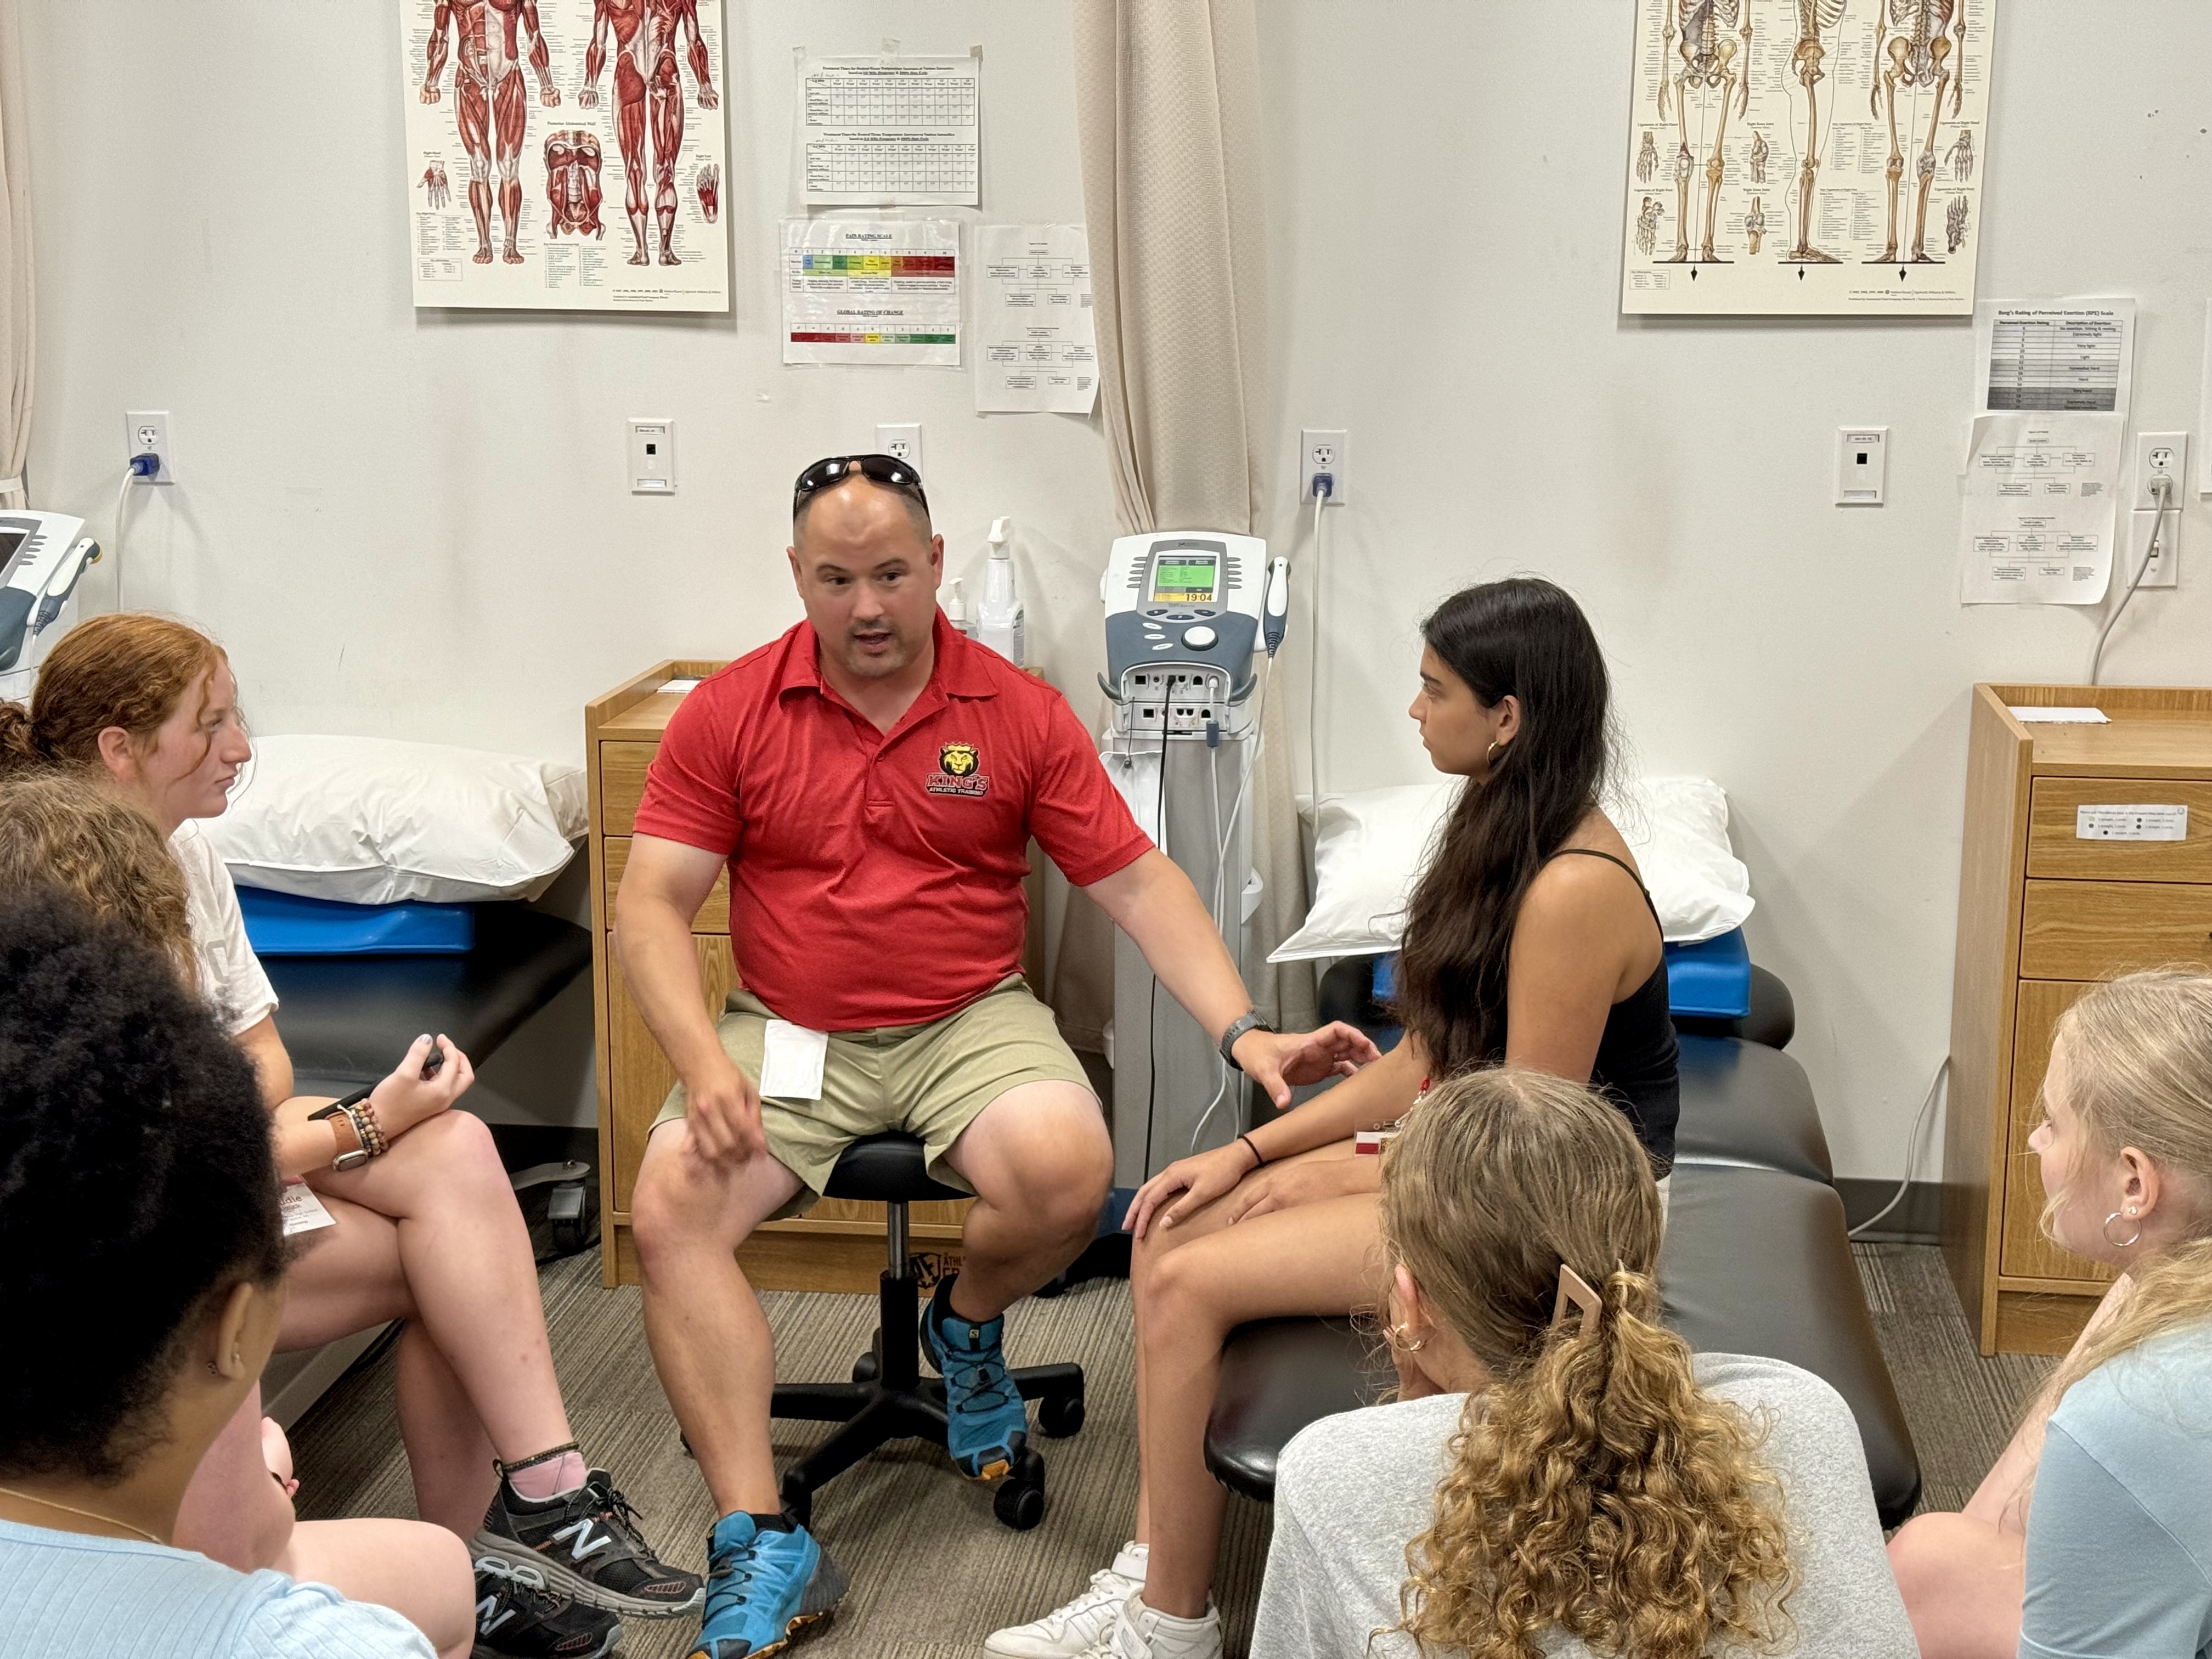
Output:
[[[964,374],[783,369],[772,281],[799,42],[982,42],[987,217],[1079,219],[1066,7],[726,11],[737,316],[681,323],[411,310],[385,0],[27,7],[33,484],[104,524],[122,411],[173,411],[186,482],[139,498],[128,597],[212,626],[263,730],[575,754],[588,695],[799,615],[792,471],[909,418],[956,568],[1015,515],[1044,661],[1088,708],[1095,429],[982,420]],[[2079,15],[2000,15],[1982,292],[2139,296],[2137,422],[2194,427],[2212,9],[2130,0],[2157,51],[2086,51]],[[1265,0],[1261,27],[1276,535],[1298,427],[1354,451],[1325,781],[1422,774],[1398,708],[1429,604],[1506,571],[1568,584],[1644,770],[1734,799],[1754,951],[1796,991],[1838,1170],[1900,1172],[1947,1046],[1966,688],[2070,679],[2093,633],[1953,599],[1969,330],[1619,319],[1628,0]],[[675,500],[624,493],[628,414],[681,422]],[[1845,422],[1891,427],[1880,511],[1827,504]],[[2212,670],[2208,533],[2192,500],[2185,586],[2137,602],[2112,679]]]

